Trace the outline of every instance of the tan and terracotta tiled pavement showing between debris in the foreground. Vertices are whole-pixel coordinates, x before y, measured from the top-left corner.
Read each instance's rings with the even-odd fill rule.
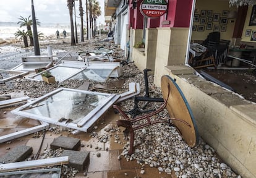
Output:
[[[6,111],[4,113],[4,111]],[[7,134],[8,132],[13,132],[13,130],[20,130],[22,127],[28,127],[29,125],[34,125],[37,121],[32,119],[22,120],[19,117],[10,113],[11,109],[0,109],[0,135]],[[98,129],[93,130],[98,132],[98,134],[103,134],[107,125],[113,124],[116,125],[116,120],[120,119],[119,114],[115,114],[113,109],[109,111],[104,116],[105,124],[97,124]],[[8,128],[8,129],[6,129]],[[122,128],[121,128],[122,129]],[[119,134],[121,140],[120,143],[114,142],[114,134]],[[1,143],[0,144],[0,156],[6,154],[9,150],[7,148],[15,148],[17,145],[27,145],[32,146],[33,155],[36,154],[40,143],[43,137],[33,138],[35,134],[30,134],[25,137],[20,137],[15,140],[11,140],[11,143]],[[90,137],[90,134],[85,132],[80,132],[77,135],[70,134],[69,132],[61,132],[59,134],[53,134],[52,132],[46,132],[45,138],[43,140],[43,146],[40,153],[43,153],[45,150],[49,150],[49,145],[53,142],[54,138],[59,136],[66,137],[75,137],[79,138],[81,145],[85,145],[80,148],[80,151],[90,151],[90,164],[87,170],[87,177],[93,178],[121,178],[121,177],[141,177],[141,178],[158,178],[158,177],[176,177],[174,174],[159,173],[156,167],[145,166],[144,174],[140,174],[142,166],[137,164],[137,161],[126,161],[122,156],[120,160],[117,159],[117,156],[122,152],[123,143],[126,143],[126,140],[123,140],[122,132],[113,133],[112,137],[106,143],[101,143],[97,138]],[[92,148],[88,145],[92,145]],[[96,149],[98,146],[98,149]],[[98,158],[96,153],[100,153],[101,156]],[[75,177],[86,177],[83,175],[83,172],[79,172]]]

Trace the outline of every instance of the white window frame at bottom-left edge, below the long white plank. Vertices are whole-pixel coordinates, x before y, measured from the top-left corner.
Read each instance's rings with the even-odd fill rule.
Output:
[[[19,174],[40,174],[42,172],[46,172],[46,174],[52,174],[49,172],[56,172],[58,174],[58,178],[61,177],[61,168],[50,168],[50,169],[33,169],[33,170],[25,170],[25,171],[12,171],[12,172],[0,172],[1,176],[14,176]]]

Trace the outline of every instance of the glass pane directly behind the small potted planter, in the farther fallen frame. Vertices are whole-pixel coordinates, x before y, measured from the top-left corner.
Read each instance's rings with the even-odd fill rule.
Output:
[[[54,67],[53,69],[49,69],[49,72],[51,72],[51,75],[55,77],[56,81],[61,81],[63,78],[67,78],[72,74],[75,74],[79,72],[80,69],[74,68],[74,67],[63,67],[58,66]],[[40,75],[35,75],[34,77],[36,80],[43,80],[43,78]]]

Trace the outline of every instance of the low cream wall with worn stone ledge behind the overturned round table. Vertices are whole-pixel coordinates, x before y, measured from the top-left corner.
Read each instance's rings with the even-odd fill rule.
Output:
[[[256,104],[197,75],[165,69],[186,96],[203,140],[237,174],[256,178]]]

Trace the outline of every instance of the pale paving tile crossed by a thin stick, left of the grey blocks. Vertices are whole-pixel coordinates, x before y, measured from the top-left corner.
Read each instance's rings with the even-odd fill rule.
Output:
[[[40,150],[40,154],[42,154],[45,150],[49,150],[49,145],[53,142],[54,138],[45,138],[43,140],[43,138],[32,138],[30,140],[28,140],[27,142],[27,146],[31,146],[33,148],[33,155],[36,155],[37,151],[40,148],[41,142],[43,140],[43,145],[41,147]]]

